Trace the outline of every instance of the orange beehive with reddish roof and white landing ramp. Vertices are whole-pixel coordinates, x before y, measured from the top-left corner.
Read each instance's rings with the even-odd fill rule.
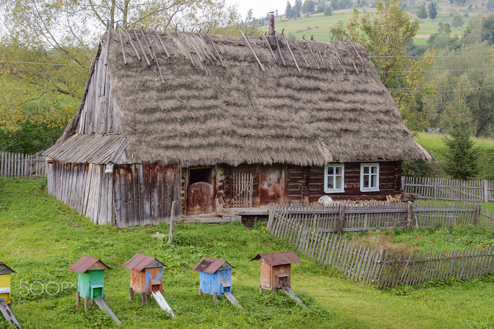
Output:
[[[163,297],[163,266],[158,259],[136,253],[130,258],[123,268],[130,270],[130,287],[128,288],[128,299],[134,299],[134,292],[141,294],[142,305],[146,305],[149,295],[153,295],[156,302],[172,317],[175,314]]]

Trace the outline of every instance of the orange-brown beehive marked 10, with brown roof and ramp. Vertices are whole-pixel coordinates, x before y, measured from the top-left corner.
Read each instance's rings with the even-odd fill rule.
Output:
[[[266,289],[276,293],[278,289],[282,289],[290,298],[305,306],[291,291],[291,263],[302,262],[293,251],[259,253],[250,261],[257,259],[261,262],[259,292],[262,293]]]

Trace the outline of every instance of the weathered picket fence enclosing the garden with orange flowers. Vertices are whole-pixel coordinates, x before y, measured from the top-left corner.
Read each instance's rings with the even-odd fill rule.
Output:
[[[405,210],[409,213],[409,205],[389,205],[387,203],[352,205],[350,207],[348,207],[349,205],[343,207],[338,205],[337,215],[340,221],[341,218],[345,218],[344,223],[348,223],[348,225],[343,225],[343,230],[345,228],[349,230],[364,229],[364,226],[372,229],[373,227],[369,227],[369,223],[377,223],[379,218],[382,220],[382,217],[385,217],[384,214],[388,214],[390,217],[385,219],[386,223],[389,224],[394,219],[394,227],[400,227],[404,220],[397,214],[403,214],[403,212],[396,210],[407,207]],[[386,206],[389,208],[384,209]],[[481,208],[479,212],[479,207],[477,205],[472,206],[472,204],[460,205],[462,208],[441,208],[442,206],[451,206],[451,204],[420,203],[413,205],[412,213],[423,215],[421,217],[413,216],[413,227],[431,226],[419,224],[443,224],[445,221],[451,221],[451,218],[454,218],[455,223],[473,224],[476,220],[479,223],[484,223],[483,214],[488,212],[484,208]],[[358,209],[359,207],[360,209]],[[323,206],[320,204],[272,206],[269,211],[267,230],[271,234],[287,240],[297,250],[321,264],[328,264],[335,269],[342,270],[348,279],[373,283],[379,288],[390,288],[397,284],[412,286],[429,280],[446,280],[452,276],[471,278],[485,275],[494,270],[494,247],[391,253],[386,252],[385,249],[377,250],[352,242],[332,233],[337,230],[326,228],[330,222],[334,222],[335,219],[331,217],[334,217],[335,214],[323,211],[334,211],[334,208],[334,205]],[[367,210],[367,212],[357,212],[359,210]],[[446,213],[448,217],[427,217],[427,214],[429,216],[441,216],[433,215],[437,213]],[[357,214],[360,218],[346,220],[357,217]],[[492,220],[494,221],[494,219]]]

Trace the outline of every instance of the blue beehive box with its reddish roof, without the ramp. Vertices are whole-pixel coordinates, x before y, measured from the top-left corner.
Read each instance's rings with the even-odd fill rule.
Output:
[[[227,291],[231,293],[232,268],[233,266],[224,260],[203,257],[192,269],[199,272],[199,294],[209,293],[213,295],[214,300]]]

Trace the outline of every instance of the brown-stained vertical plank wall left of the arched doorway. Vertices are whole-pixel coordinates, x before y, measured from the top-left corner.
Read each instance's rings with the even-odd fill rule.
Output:
[[[118,227],[169,222],[175,201],[180,219],[180,166],[178,163],[119,164],[114,166],[113,190]]]

